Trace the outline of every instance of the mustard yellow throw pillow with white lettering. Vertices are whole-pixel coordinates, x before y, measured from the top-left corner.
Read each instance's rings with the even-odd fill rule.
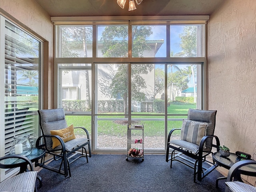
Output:
[[[60,130],[52,130],[51,135],[60,136],[63,139],[64,143],[76,138],[76,136],[74,134],[74,126],[73,125],[70,125],[69,127],[60,129]],[[57,138],[52,137],[52,148],[54,149],[59,145],[60,145],[60,141]]]

